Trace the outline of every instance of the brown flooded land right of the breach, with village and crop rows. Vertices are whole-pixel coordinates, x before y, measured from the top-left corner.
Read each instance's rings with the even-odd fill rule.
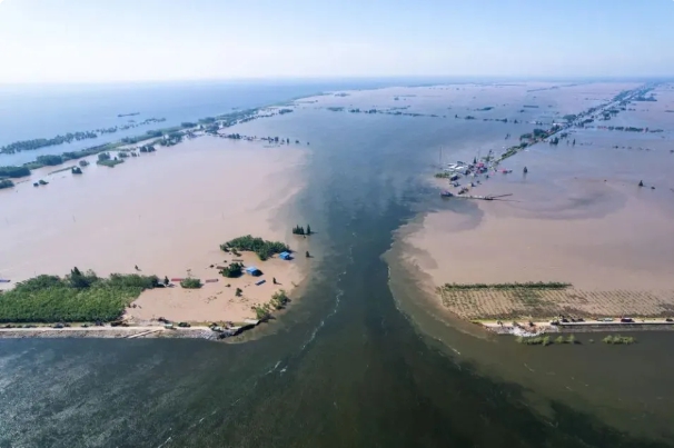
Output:
[[[524,336],[674,329],[674,128],[663,121],[674,91],[593,88],[531,90],[528,109],[576,104],[549,106],[516,145],[439,160],[429,182],[448,210],[408,226],[400,243],[423,252],[400,257],[448,316]]]

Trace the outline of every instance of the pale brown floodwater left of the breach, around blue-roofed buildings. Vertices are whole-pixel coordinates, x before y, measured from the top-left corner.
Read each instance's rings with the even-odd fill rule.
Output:
[[[290,235],[290,209],[304,187],[305,155],[300,148],[202,137],[116,168],[90,158],[82,176],[41,170],[34,176],[48,186],[24,182],[0,191],[0,278],[14,283],[39,273],[65,275],[73,266],[107,276],[138,266],[140,273],[160,278],[219,281],[199,290],[146,291],[140,308],[130,309],[136,320],[254,317],[250,306],[267,302],[277,289],[293,298],[294,285],[305,276],[304,257],[258,262],[245,253],[247,265],[265,272],[267,282],[255,288],[248,278],[229,281],[210,266],[227,259],[220,243],[242,235],[281,240],[304,255],[306,242]],[[272,277],[281,285],[274,287]],[[235,299],[237,287],[244,295]]]

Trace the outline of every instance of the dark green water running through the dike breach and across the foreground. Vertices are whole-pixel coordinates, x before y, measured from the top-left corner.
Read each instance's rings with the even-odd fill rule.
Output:
[[[488,142],[503,128],[293,116],[241,127],[311,141],[296,208],[318,231],[319,253],[301,301],[262,330],[274,335],[1,340],[0,447],[664,446],[562,401],[542,415],[526,386],[484,375],[398,309],[381,255],[429,207],[418,173],[439,142]],[[455,336],[470,338],[462,350],[505,344]]]

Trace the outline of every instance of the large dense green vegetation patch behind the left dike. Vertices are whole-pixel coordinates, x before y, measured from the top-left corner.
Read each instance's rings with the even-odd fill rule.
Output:
[[[0,322],[113,321],[158,282],[136,273],[101,278],[77,267],[66,277],[38,276],[0,293]]]

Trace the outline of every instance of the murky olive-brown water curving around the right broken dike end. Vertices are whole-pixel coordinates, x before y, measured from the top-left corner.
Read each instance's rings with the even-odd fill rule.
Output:
[[[398,237],[410,231],[414,223],[402,228]],[[396,305],[457,365],[470,361],[480,375],[524,386],[525,405],[553,420],[549,405],[558,400],[634,435],[660,439],[674,435],[670,425],[674,385],[667,374],[674,359],[666,356],[674,333],[632,332],[638,342],[622,347],[602,344],[605,333],[578,333],[576,346],[518,345],[514,337],[489,333],[439,306],[427,275],[409,263],[409,250],[404,238],[396,238],[384,256]]]

